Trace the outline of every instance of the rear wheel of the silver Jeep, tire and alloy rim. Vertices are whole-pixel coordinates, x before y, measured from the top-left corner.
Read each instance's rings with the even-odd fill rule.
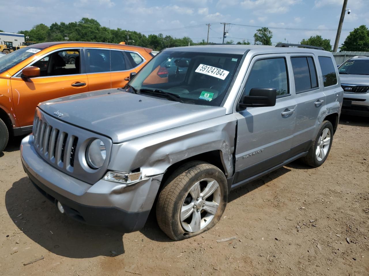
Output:
[[[324,133],[323,133],[324,132]],[[323,141],[321,139],[323,138]],[[329,138],[329,139],[328,139]],[[325,141],[325,142],[324,142]],[[333,141],[333,126],[330,121],[321,123],[318,135],[311,145],[308,154],[301,161],[311,167],[319,167],[327,159]]]

